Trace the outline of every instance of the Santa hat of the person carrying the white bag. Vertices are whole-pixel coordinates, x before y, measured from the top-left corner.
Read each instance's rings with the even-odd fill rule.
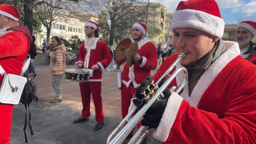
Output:
[[[19,21],[19,11],[16,7],[8,4],[0,4],[0,14]]]

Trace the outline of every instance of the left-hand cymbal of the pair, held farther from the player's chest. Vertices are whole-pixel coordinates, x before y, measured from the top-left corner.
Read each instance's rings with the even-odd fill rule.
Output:
[[[123,62],[126,60],[126,56],[130,46],[132,45],[132,41],[129,38],[123,39],[118,43],[116,50],[114,52],[114,58],[118,62]]]

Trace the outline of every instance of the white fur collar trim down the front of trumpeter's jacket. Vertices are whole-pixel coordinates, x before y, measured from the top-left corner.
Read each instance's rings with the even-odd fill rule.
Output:
[[[203,75],[200,77],[199,81],[197,82],[196,86],[194,87],[192,93],[191,93],[191,100],[195,105],[197,106],[200,99],[202,98],[204,92],[210,86],[212,81],[219,75],[219,73],[222,71],[226,65],[233,60],[235,57],[237,57],[240,54],[239,46],[237,42],[230,42],[230,41],[224,41],[226,52],[221,54],[217,58],[215,62],[213,62],[203,73]],[[180,62],[176,65],[176,67],[181,66]],[[178,73],[176,76],[176,79],[179,79],[180,81],[183,80],[184,75],[182,73]],[[177,80],[176,80],[177,82]],[[184,90],[188,93],[188,82],[184,86]]]

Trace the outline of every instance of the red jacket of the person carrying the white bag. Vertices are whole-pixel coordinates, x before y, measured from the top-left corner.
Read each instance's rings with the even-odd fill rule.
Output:
[[[27,26],[17,26],[7,29],[0,36],[0,65],[6,73],[19,75],[26,60],[32,38]],[[4,76],[0,76],[0,84]]]

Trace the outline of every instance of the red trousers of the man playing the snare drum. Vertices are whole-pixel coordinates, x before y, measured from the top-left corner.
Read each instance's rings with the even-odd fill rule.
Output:
[[[93,103],[95,106],[95,120],[97,122],[104,121],[101,97],[101,82],[84,82],[79,83],[81,97],[82,97],[82,117],[91,116],[90,113],[90,99],[93,96]]]

